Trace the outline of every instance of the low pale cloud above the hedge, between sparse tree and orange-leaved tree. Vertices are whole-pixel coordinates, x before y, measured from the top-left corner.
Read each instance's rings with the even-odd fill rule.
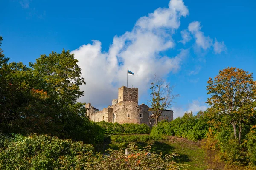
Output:
[[[190,111],[192,111],[193,114],[197,114],[199,111],[206,111],[206,109],[207,109],[206,105],[202,105],[198,100],[193,100],[192,103],[189,103],[186,106],[186,109],[178,106],[174,107],[173,117],[174,119],[176,119],[177,117],[182,117],[185,112],[190,112]]]

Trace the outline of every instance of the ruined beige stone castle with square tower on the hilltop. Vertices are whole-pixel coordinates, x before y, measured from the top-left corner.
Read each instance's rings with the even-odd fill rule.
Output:
[[[112,105],[107,108],[103,108],[102,111],[94,108],[90,103],[86,104],[86,114],[90,120],[94,122],[105,122],[112,123],[145,123],[148,126],[154,125],[154,119],[151,119],[151,111],[145,104],[138,105],[138,88],[127,88],[122,86],[118,88],[118,98],[112,100]],[[173,111],[164,110],[162,115],[158,119],[162,120],[173,120]]]

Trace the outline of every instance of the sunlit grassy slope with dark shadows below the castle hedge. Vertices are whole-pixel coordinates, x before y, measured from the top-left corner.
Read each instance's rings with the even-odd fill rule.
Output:
[[[151,143],[151,152],[172,154],[177,153],[180,156],[175,157],[177,164],[182,164],[181,170],[204,170],[207,169],[206,153],[201,149],[201,142],[192,142],[184,138],[178,138],[175,136],[166,136],[165,139],[148,142],[111,142],[110,136],[105,137],[105,142],[98,151],[104,152],[106,149],[111,148],[118,150],[120,147],[125,148],[127,144],[134,143],[140,149],[146,147]]]

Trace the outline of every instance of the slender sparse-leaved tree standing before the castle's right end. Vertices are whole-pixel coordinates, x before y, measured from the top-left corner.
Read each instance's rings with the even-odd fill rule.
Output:
[[[166,83],[160,77],[155,76],[154,82],[151,82],[151,100],[150,103],[152,111],[152,118],[156,122],[156,126],[158,124],[158,119],[162,115],[163,111],[170,108],[174,100],[179,96],[179,94],[173,94],[173,88],[175,86],[171,86]]]

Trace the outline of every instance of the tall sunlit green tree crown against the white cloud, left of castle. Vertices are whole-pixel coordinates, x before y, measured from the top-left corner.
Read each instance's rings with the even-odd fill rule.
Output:
[[[45,82],[44,89],[51,96],[62,122],[67,119],[70,111],[73,111],[72,106],[84,93],[79,88],[85,82],[77,62],[74,54],[63,49],[61,54],[52,52],[49,56],[41,55],[36,63],[29,63],[34,69],[34,76]]]

